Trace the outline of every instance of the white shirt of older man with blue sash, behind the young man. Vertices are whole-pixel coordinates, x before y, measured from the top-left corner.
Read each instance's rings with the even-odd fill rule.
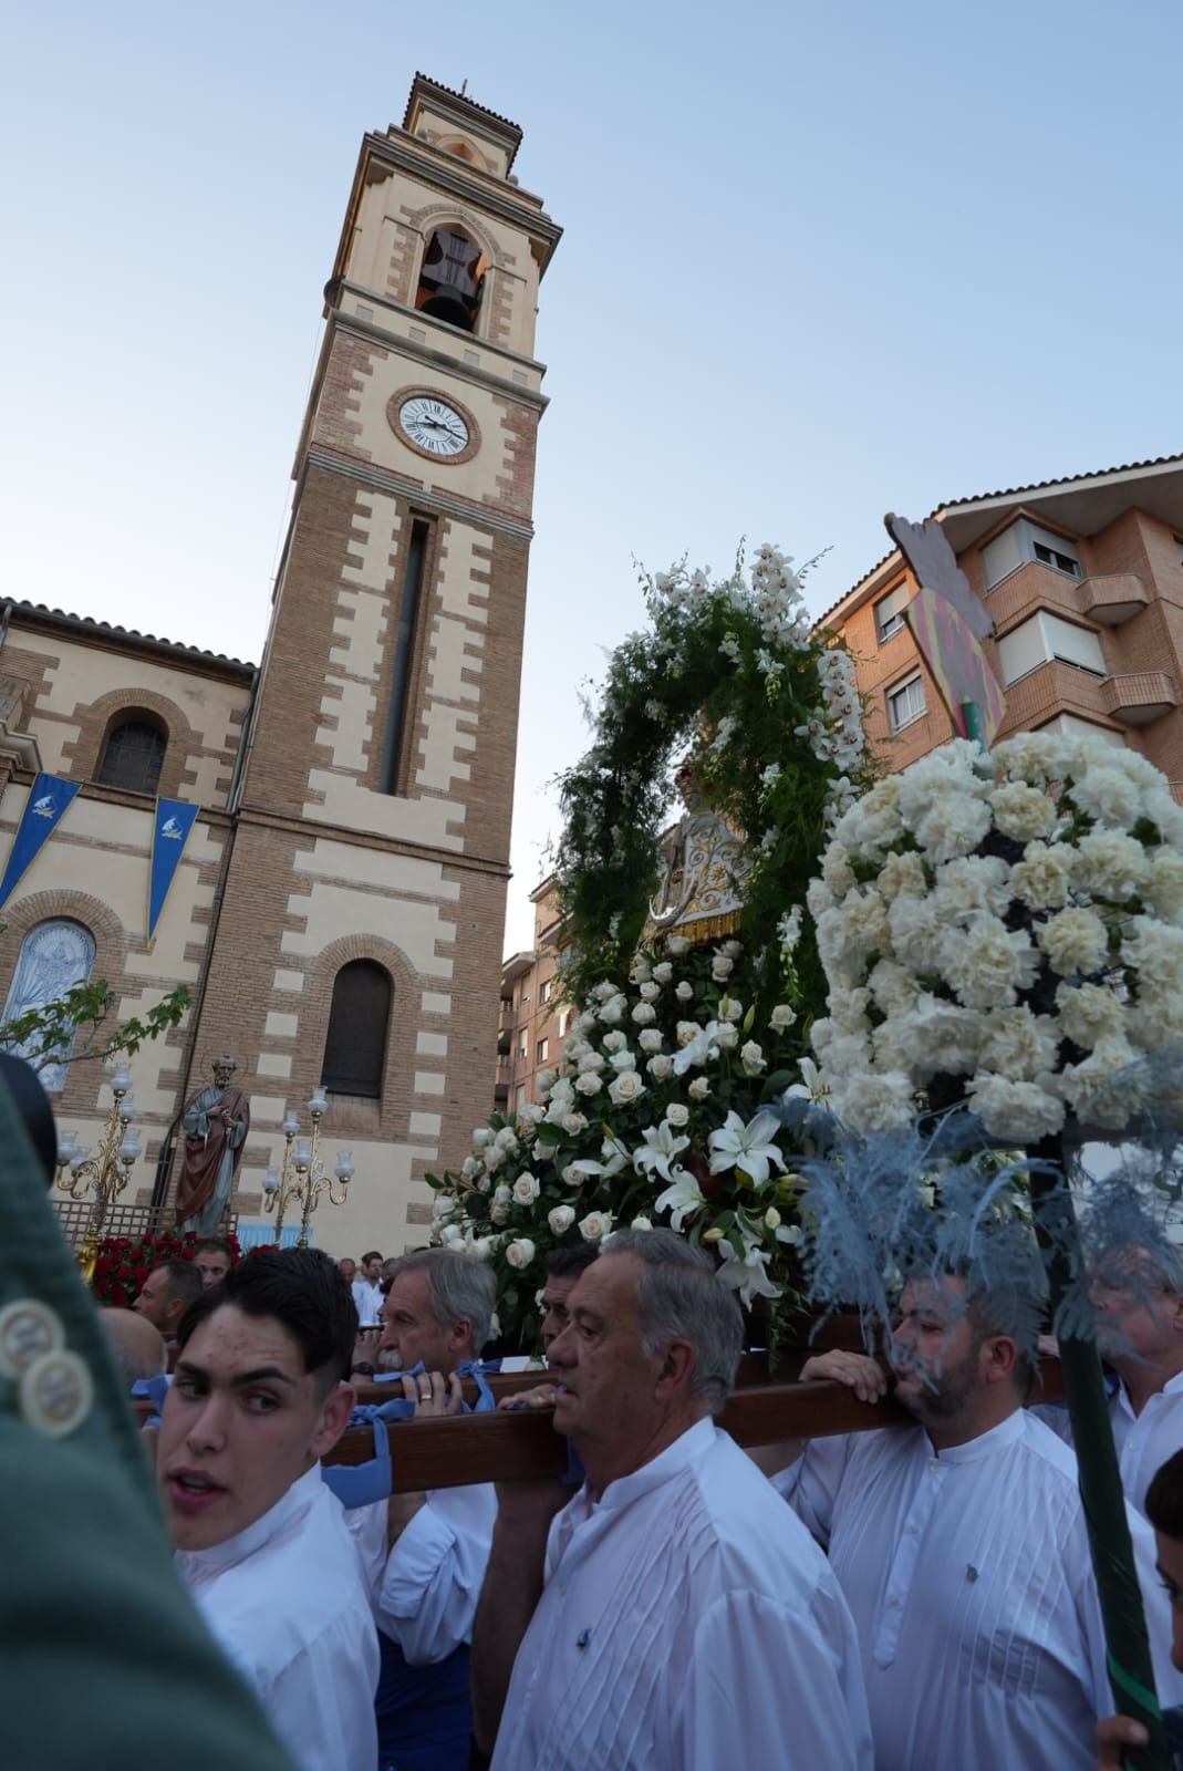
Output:
[[[430,1488],[388,1555],[384,1500],[345,1514],[377,1626],[398,1643],[407,1665],[434,1665],[473,1640],[496,1518],[492,1482]]]

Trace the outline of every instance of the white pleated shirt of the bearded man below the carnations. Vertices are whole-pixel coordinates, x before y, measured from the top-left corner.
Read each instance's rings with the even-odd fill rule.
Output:
[[[854,1613],[877,1771],[1093,1771],[1116,1705],[1077,1461],[1054,1433],[1017,1410],[940,1454],[919,1426],[815,1440],[776,1486]],[[1153,1537],[1130,1525],[1167,1668]]]

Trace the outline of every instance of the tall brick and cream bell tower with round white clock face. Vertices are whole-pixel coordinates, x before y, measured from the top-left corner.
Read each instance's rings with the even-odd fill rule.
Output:
[[[331,1252],[423,1241],[416,1178],[462,1160],[492,1096],[560,239],[519,143],[423,74],[363,140],[243,740],[198,1045],[246,1054],[246,1217],[285,1105],[328,1087],[326,1162],[356,1167],[313,1226]]]

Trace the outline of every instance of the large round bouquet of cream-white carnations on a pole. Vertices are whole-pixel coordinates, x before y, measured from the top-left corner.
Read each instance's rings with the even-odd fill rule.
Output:
[[[854,1132],[958,1100],[1004,1144],[1121,1130],[1132,1066],[1183,1040],[1183,808],[1137,751],[946,744],[843,813],[809,909],[813,1047]]]

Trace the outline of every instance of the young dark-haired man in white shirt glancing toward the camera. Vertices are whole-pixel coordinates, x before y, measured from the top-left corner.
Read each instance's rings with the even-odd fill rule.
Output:
[[[186,1311],[156,1443],[177,1571],[303,1771],[377,1764],[377,1636],[321,1477],[356,1326],[326,1254],[257,1250]]]

